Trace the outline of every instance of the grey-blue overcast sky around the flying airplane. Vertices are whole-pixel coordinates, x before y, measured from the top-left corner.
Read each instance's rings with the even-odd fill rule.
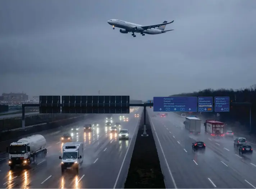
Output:
[[[256,1],[1,0],[0,93],[146,100],[256,83]],[[120,19],[166,26],[122,34]]]

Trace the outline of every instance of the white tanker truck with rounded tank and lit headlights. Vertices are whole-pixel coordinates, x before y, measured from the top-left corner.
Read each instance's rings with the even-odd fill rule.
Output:
[[[32,135],[13,142],[6,148],[9,153],[9,166],[29,166],[37,157],[45,158],[47,154],[46,140],[42,135]]]

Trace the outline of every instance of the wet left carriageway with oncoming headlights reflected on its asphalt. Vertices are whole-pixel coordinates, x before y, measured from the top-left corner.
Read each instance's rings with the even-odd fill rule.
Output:
[[[71,126],[65,126],[59,131],[44,135],[47,141],[47,157],[45,160],[38,160],[31,169],[10,170],[8,166],[8,155],[0,158],[0,188],[119,188],[125,182],[120,176],[121,167],[128,173],[129,166],[126,161],[131,157],[127,154],[128,146],[133,140],[133,134],[139,118],[134,113],[141,115],[142,108],[129,115],[128,122],[121,122],[118,114],[113,115],[113,123],[120,122],[121,128],[128,129],[129,140],[118,139],[118,134],[110,134],[109,128],[105,127],[106,115],[97,115],[97,118],[88,118],[86,121],[78,122],[79,131],[73,132],[73,141],[84,142],[84,160],[79,174],[72,171],[65,171],[61,174],[59,156],[62,156],[62,143],[60,138],[64,133],[71,132]],[[99,123],[99,129],[92,132],[83,132],[85,123]],[[137,135],[137,132],[136,132]],[[135,135],[134,135],[135,136]],[[134,143],[135,141],[132,141]],[[132,147],[129,151],[132,151]],[[128,153],[129,154],[129,153]],[[6,159],[5,159],[6,158]],[[123,166],[124,165],[124,166]],[[117,185],[116,185],[117,184]]]

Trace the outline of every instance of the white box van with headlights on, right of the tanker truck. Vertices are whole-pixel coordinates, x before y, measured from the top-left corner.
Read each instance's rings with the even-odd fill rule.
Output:
[[[83,142],[67,142],[63,146],[61,173],[65,169],[74,169],[78,174],[79,166],[83,163]]]

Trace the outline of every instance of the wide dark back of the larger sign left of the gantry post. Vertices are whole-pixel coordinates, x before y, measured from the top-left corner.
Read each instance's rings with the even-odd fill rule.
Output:
[[[129,113],[130,96],[62,96],[62,113]]]

